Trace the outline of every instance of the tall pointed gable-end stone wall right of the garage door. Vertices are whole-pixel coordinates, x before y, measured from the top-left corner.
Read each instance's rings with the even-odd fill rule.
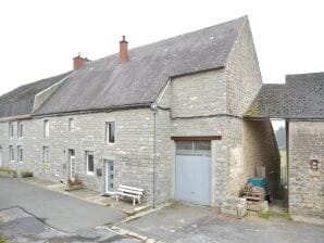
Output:
[[[262,126],[265,131],[261,131],[258,126],[262,123],[253,124],[256,127],[250,128],[250,124],[244,122],[242,118],[262,85],[249,23],[244,26],[241,36],[234,47],[226,66],[226,74],[227,194],[237,196],[247,179],[256,176],[256,165],[261,163],[261,156],[250,156],[249,153],[253,153],[258,150],[258,144],[262,144],[260,148],[264,152],[262,161],[266,163],[272,159],[273,154],[277,153],[276,146],[273,145],[275,138],[271,132],[271,124]],[[251,137],[256,140],[251,141]],[[267,138],[266,141],[263,141],[264,137]],[[263,150],[262,146],[270,150]],[[277,163],[277,161],[272,163]]]

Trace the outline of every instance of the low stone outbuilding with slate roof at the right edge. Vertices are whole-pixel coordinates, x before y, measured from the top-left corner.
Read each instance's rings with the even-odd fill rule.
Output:
[[[247,119],[286,120],[288,206],[295,219],[324,219],[324,73],[263,85]]]

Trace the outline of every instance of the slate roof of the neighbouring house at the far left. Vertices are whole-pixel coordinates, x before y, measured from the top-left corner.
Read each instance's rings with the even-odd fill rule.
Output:
[[[0,117],[32,114],[35,94],[62,80],[70,73],[27,84],[1,95]]]

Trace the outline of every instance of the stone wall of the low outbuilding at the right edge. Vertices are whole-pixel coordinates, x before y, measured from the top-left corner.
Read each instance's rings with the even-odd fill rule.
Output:
[[[289,122],[288,132],[289,212],[324,219],[324,122]]]

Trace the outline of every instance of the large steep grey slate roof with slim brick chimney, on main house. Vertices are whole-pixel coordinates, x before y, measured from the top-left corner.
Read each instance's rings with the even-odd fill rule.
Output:
[[[36,114],[64,113],[153,102],[173,76],[223,67],[248,22],[246,16],[198,31],[91,61],[77,72]]]

